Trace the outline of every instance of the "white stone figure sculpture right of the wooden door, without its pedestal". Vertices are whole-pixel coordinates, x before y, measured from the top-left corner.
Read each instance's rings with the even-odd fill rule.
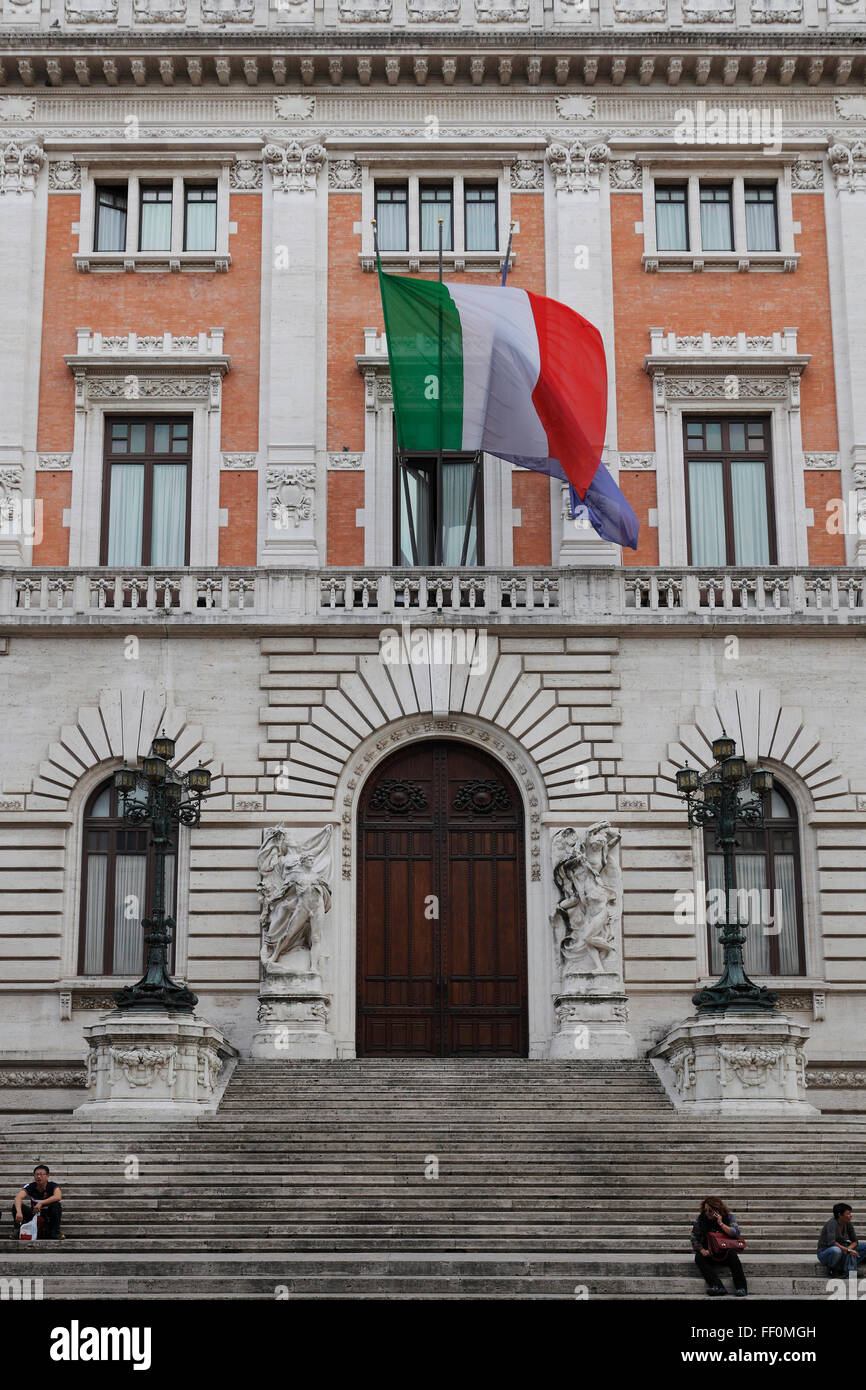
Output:
[[[563,979],[620,970],[620,838],[607,820],[553,835],[553,883],[560,899],[552,926]]]

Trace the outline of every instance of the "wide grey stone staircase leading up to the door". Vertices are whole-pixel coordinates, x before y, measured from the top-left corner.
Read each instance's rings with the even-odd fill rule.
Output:
[[[7,1123],[0,1190],[49,1162],[67,1238],[6,1241],[0,1277],[42,1275],[44,1298],[703,1298],[688,1232],[713,1193],[752,1294],[826,1298],[816,1234],[856,1201],[865,1140],[862,1118],[684,1119],[646,1062],[243,1062],[214,1116]]]

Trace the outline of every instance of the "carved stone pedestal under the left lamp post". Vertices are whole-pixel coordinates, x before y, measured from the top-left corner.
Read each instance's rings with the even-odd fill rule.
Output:
[[[193,1013],[115,1009],[83,1030],[88,1091],[79,1119],[182,1119],[217,1109],[236,1049]]]

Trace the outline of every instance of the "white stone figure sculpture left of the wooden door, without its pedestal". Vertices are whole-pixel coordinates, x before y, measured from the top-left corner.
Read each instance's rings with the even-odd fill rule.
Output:
[[[275,826],[265,833],[257,862],[265,979],[318,974],[322,919],[331,908],[331,827],[297,844],[285,826]]]

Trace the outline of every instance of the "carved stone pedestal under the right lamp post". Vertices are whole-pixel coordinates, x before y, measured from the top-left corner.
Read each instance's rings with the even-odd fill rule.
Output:
[[[651,1059],[677,1109],[692,1115],[819,1115],[806,1099],[808,1037],[784,1013],[698,1013]]]

